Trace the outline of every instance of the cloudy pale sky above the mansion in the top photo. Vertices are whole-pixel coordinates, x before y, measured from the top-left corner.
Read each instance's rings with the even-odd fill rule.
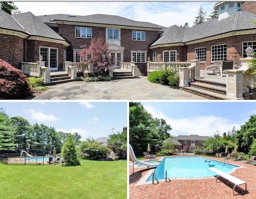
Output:
[[[217,1],[216,1],[217,2]],[[186,22],[192,27],[198,16],[200,6],[210,15],[215,1],[208,2],[14,2],[21,12],[32,12],[34,15],[49,14],[109,14],[125,17],[131,20],[151,22],[160,26],[183,26]]]

